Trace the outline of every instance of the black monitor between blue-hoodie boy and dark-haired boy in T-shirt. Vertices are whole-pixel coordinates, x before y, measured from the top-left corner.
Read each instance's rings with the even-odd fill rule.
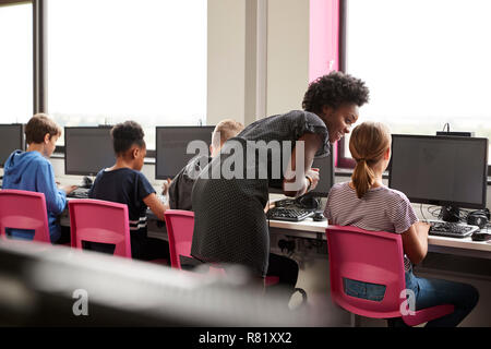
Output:
[[[116,163],[111,128],[64,128],[64,173],[95,176]]]

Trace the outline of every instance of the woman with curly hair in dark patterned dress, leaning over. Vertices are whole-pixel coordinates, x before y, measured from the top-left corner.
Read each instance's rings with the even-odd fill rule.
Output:
[[[261,284],[267,274],[284,270],[270,255],[264,213],[268,188],[279,186],[288,196],[300,196],[315,189],[322,173],[311,168],[314,157],[328,155],[330,143],[349,132],[358,120],[358,108],[368,99],[369,89],[361,80],[332,72],[310,84],[302,104],[304,110],[259,120],[228,140],[220,156],[201,172],[193,188],[192,255],[205,263],[246,266]],[[275,142],[280,144],[279,156],[268,147]],[[290,171],[285,171],[285,163]],[[236,173],[243,170],[244,176],[230,178],[212,173],[230,164]],[[296,168],[296,164],[301,166]],[[280,174],[275,176],[278,168]],[[298,274],[296,263],[295,267]],[[285,277],[289,278],[286,284],[295,287],[297,274]]]

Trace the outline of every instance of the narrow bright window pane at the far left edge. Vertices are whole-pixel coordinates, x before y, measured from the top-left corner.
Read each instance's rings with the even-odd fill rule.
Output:
[[[33,115],[33,5],[0,5],[0,123]]]

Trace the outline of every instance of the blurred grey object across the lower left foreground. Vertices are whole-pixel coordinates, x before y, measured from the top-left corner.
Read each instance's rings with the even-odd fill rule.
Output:
[[[0,242],[0,326],[328,326],[235,278],[65,246]],[[277,294],[276,294],[277,296]]]

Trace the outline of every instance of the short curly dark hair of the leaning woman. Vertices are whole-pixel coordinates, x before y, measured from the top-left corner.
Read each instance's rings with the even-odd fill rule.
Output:
[[[337,109],[343,104],[361,107],[369,100],[369,89],[359,79],[333,71],[313,81],[303,96],[302,108],[315,113],[324,106]]]

